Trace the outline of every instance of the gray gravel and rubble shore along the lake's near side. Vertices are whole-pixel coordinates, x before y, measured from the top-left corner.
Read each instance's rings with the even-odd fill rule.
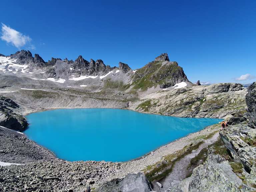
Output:
[[[189,134],[162,146],[141,158],[128,162],[76,161],[57,159],[47,149],[16,131],[0,128],[0,161],[24,165],[0,166],[0,189],[9,191],[85,191],[97,188],[105,181],[138,173],[162,157],[182,149],[197,138],[216,131],[218,126]],[[3,145],[4,143],[4,145]]]

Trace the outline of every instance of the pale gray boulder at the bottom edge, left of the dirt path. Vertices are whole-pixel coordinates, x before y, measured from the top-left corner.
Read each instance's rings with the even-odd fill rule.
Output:
[[[150,192],[151,186],[145,175],[141,172],[138,174],[128,174],[123,179],[114,179],[106,182],[98,192]]]

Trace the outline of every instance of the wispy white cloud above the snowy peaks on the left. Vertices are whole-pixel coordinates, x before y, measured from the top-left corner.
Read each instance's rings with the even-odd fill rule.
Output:
[[[15,29],[10,28],[3,23],[1,39],[7,43],[11,43],[18,49],[31,41],[29,36],[23,35],[19,31],[16,31]]]

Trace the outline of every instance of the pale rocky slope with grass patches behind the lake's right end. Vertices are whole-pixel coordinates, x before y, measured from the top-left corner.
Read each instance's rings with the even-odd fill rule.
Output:
[[[241,84],[221,83],[149,94],[131,109],[178,117],[223,118],[246,110],[246,89]]]

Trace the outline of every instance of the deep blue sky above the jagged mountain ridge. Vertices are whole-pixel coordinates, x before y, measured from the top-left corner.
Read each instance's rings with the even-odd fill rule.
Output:
[[[2,0],[1,7],[0,35],[12,33],[0,39],[5,55],[29,49],[45,61],[82,55],[136,69],[167,52],[192,82],[256,81],[253,0]]]

